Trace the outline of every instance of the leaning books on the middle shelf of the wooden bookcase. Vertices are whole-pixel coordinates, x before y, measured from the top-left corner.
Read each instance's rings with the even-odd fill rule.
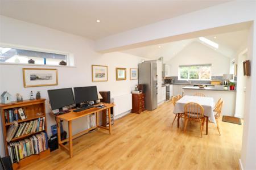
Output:
[[[6,141],[10,142],[13,138],[18,138],[23,135],[44,130],[45,120],[45,117],[39,117],[36,120],[10,125],[9,129],[7,130]]]

